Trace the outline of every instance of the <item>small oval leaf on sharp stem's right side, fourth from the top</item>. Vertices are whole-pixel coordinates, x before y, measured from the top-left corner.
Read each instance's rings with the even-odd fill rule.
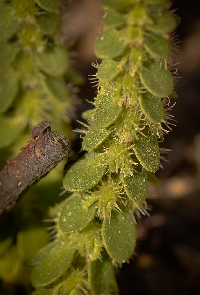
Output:
[[[163,105],[160,97],[147,92],[139,95],[139,103],[143,113],[152,123],[158,124],[161,122]]]

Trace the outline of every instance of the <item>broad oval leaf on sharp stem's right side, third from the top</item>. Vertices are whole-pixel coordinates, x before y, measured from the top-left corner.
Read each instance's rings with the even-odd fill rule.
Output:
[[[145,62],[140,71],[140,79],[153,95],[166,97],[173,90],[173,79],[168,68],[159,61]]]

